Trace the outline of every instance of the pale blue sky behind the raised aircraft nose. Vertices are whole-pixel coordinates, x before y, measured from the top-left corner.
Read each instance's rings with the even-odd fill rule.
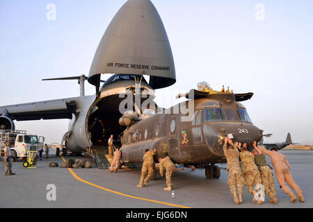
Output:
[[[126,1],[0,0],[0,105],[79,96],[99,41]],[[213,89],[254,92],[244,101],[266,142],[313,144],[313,1],[154,0],[175,61],[175,85],[157,103],[207,81]],[[51,19],[50,4],[56,7]],[[55,18],[55,19],[54,19]],[[109,78],[109,74],[102,77]],[[95,89],[86,83],[86,94]],[[19,130],[61,142],[68,120],[19,121]]]

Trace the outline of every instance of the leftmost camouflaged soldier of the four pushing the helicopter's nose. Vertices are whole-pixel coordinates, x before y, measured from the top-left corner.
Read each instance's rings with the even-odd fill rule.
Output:
[[[227,143],[229,146],[227,147]],[[236,204],[242,203],[242,187],[244,183],[243,173],[239,164],[239,151],[232,144],[232,139],[225,137],[225,144],[223,146],[224,155],[227,159],[227,171],[228,176],[228,185],[230,186],[230,193],[234,195],[234,202]],[[238,189],[238,195],[236,192],[236,187]]]

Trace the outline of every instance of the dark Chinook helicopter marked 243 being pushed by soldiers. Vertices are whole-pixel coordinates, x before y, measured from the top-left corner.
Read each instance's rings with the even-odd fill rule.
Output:
[[[121,125],[128,123],[121,137],[123,162],[141,162],[146,148],[156,148],[156,160],[168,155],[177,164],[205,168],[207,178],[219,178],[215,164],[225,162],[226,135],[232,134],[234,141],[247,142],[248,146],[262,139],[263,131],[252,124],[239,103],[250,99],[252,93],[191,89],[184,96],[189,100],[142,119],[136,114],[123,115]],[[190,119],[186,118],[189,114]]]

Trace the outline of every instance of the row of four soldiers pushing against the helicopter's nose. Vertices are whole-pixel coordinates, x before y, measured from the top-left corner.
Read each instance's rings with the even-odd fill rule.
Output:
[[[267,151],[261,146],[257,146],[255,141],[252,143],[253,149],[251,152],[248,151],[247,146],[247,143],[243,143],[241,146],[240,142],[233,143],[232,139],[225,137],[223,151],[227,159],[227,171],[229,173],[228,185],[230,186],[230,192],[233,194],[236,204],[243,202],[242,194],[243,185],[245,184],[249,193],[253,195],[253,203],[264,203],[264,198],[260,197],[262,191],[270,198],[271,203],[278,203],[273,172],[271,171],[271,167],[266,163],[264,154],[271,157],[280,188],[291,198],[291,203],[294,203],[297,198],[291,189],[287,187],[286,182],[296,191],[300,202],[305,202],[303,191],[294,182],[290,173],[290,164],[284,155],[278,153],[275,148]],[[243,166],[240,163],[239,157]],[[259,190],[256,190],[256,188],[259,188]]]

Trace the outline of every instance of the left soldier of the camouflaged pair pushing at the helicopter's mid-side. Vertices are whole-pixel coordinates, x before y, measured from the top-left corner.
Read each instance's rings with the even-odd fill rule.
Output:
[[[157,150],[154,149],[150,151],[148,148],[145,150],[145,155],[143,155],[143,168],[141,169],[141,180],[137,187],[147,187],[147,182],[150,181],[152,173],[154,171],[154,159],[153,156],[156,155]]]

